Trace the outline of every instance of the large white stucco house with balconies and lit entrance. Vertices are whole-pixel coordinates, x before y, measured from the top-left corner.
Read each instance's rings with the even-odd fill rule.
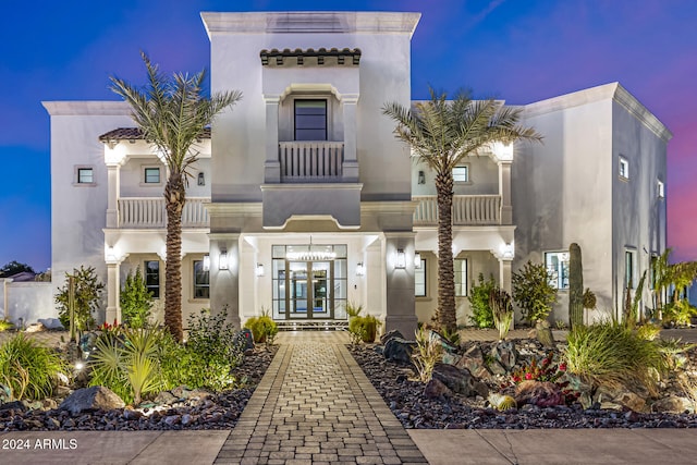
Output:
[[[395,139],[386,102],[412,102],[418,13],[201,13],[211,90],[239,89],[197,146],[183,215],[183,309],[269,310],[299,327],[362,304],[405,333],[437,306],[433,174]],[[107,283],[119,318],[126,273],[157,299],[164,280],[164,166],[119,101],[47,101],[52,273],[80,265]],[[496,145],[455,172],[458,322],[481,272],[511,289],[528,259],[562,290],[584,254],[586,285],[613,309],[665,247],[670,132],[619,84],[526,105],[543,145]],[[636,279],[632,283],[636,283]],[[649,305],[647,298],[647,305]]]

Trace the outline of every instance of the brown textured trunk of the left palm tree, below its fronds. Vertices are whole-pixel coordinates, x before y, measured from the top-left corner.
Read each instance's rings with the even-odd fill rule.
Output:
[[[182,341],[182,210],[186,201],[182,176],[172,173],[164,187],[167,205],[167,264],[164,266],[164,326]]]

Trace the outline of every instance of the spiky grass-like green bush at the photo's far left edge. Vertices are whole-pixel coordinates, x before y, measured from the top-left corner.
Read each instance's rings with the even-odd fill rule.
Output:
[[[68,366],[58,353],[16,334],[0,345],[0,383],[16,400],[42,400],[53,393],[60,374]]]

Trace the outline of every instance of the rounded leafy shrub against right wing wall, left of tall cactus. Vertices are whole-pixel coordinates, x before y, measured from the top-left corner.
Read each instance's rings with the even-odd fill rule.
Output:
[[[550,284],[551,278],[545,265],[531,261],[513,273],[513,299],[523,309],[526,320],[546,320],[552,310],[557,289]]]

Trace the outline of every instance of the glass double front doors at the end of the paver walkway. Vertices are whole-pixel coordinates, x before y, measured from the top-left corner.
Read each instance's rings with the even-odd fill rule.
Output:
[[[286,261],[285,319],[333,319],[331,261]]]

